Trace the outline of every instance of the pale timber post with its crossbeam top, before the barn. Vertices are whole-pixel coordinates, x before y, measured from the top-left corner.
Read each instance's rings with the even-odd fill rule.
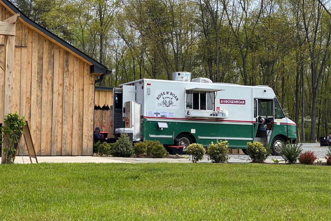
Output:
[[[0,28],[0,35],[5,35],[5,57],[1,60],[5,60],[5,79],[3,88],[3,116],[12,113],[13,110],[13,85],[14,85],[14,57],[15,57],[15,23],[19,20],[20,14],[16,14],[4,22],[0,23],[2,28]],[[6,25],[9,24],[9,25]],[[5,124],[3,124],[5,126]],[[1,153],[1,163],[5,162],[6,156],[3,151],[4,147],[7,146],[6,139],[3,140],[2,153]]]

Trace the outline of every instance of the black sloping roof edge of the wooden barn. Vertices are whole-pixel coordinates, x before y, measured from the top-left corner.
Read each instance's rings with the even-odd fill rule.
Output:
[[[37,28],[38,30],[42,31],[43,33],[45,33],[47,36],[53,38],[54,40],[56,40],[57,42],[59,42],[60,44],[64,45],[65,47],[67,47],[69,50],[71,50],[72,52],[78,54],[79,56],[81,56],[82,58],[86,59],[87,61],[89,61],[90,63],[92,63],[91,65],[91,71],[93,70],[93,72],[91,73],[99,73],[99,74],[107,74],[107,72],[109,72],[108,68],[102,64],[100,64],[98,61],[94,60],[93,58],[91,58],[90,56],[88,56],[87,54],[81,52],[79,49],[75,48],[74,46],[72,46],[71,44],[69,44],[68,42],[66,42],[65,40],[63,40],[62,38],[58,37],[57,35],[53,34],[52,32],[48,31],[47,29],[41,27],[40,25],[38,25],[37,23],[33,22],[32,20],[30,20],[28,17],[26,17],[12,2],[10,2],[9,0],[1,0],[3,3],[5,3],[11,10],[13,10],[15,13],[20,13],[20,17],[27,22],[29,25],[33,26],[34,28]],[[94,66],[94,67],[93,67]],[[93,69],[92,69],[93,67]]]

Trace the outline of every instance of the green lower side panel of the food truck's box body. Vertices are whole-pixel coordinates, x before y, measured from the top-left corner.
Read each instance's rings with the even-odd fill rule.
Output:
[[[168,128],[159,130],[158,122],[166,122]],[[162,120],[146,119],[143,121],[144,140],[159,140],[162,144],[173,144],[174,138],[185,133],[193,142],[208,146],[212,141],[227,140],[230,148],[246,148],[256,133],[252,123],[222,123],[199,120]],[[253,131],[254,130],[254,131]],[[191,133],[192,132],[192,133]]]

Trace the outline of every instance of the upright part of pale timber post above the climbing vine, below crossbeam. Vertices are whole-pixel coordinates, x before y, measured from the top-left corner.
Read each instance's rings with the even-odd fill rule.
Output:
[[[13,112],[13,94],[14,94],[14,55],[15,55],[15,35],[8,35],[5,37],[5,56],[6,56],[6,71],[4,81],[4,109],[3,116]],[[4,148],[8,141],[4,140],[2,147]],[[6,160],[6,155],[3,151],[1,153],[1,163]]]

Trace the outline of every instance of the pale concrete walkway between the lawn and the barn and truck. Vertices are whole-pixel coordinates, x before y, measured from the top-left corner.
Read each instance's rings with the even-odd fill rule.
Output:
[[[131,158],[131,157],[93,157],[93,156],[37,156],[38,163],[156,163],[156,162],[168,162],[168,163],[192,163],[192,161],[180,158]],[[35,159],[32,158],[32,163],[35,163]],[[201,163],[210,163],[207,159],[199,161]],[[249,163],[251,161],[244,159],[229,159],[229,163]],[[273,163],[271,159],[267,159],[264,162]],[[317,161],[315,161],[317,162]],[[325,159],[322,162],[326,162]],[[28,156],[17,156],[15,163],[30,163]],[[279,163],[285,163],[281,161]]]

